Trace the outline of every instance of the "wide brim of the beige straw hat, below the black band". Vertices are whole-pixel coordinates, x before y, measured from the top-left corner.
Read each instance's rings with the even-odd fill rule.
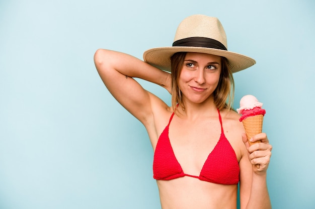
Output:
[[[256,64],[256,61],[248,56],[205,47],[159,47],[146,50],[143,60],[157,68],[171,72],[171,56],[176,52],[198,52],[225,57],[232,73],[239,72]]]

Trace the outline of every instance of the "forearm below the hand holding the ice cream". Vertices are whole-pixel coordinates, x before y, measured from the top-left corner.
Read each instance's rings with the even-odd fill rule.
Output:
[[[266,173],[259,175],[253,172],[251,194],[246,208],[271,208],[266,175]]]

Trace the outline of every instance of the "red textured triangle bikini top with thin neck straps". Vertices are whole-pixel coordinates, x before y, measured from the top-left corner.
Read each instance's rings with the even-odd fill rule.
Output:
[[[164,129],[157,141],[153,158],[153,178],[156,180],[172,180],[184,176],[198,178],[202,181],[208,181],[217,184],[238,184],[240,180],[240,166],[237,156],[226,139],[222,119],[219,113],[221,124],[221,136],[216,146],[205,161],[199,176],[184,173],[181,165],[177,161],[172,145],[169,139],[169,126],[173,119]]]

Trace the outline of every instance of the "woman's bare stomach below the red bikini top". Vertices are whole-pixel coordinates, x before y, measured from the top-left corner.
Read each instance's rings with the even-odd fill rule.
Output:
[[[162,209],[237,208],[238,185],[215,184],[184,176],[157,180]]]

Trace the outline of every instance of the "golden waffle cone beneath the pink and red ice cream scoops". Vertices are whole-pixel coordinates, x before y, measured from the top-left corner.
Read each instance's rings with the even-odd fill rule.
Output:
[[[263,115],[257,115],[257,116],[248,117],[242,121],[248,140],[250,140],[256,134],[262,133],[263,119],[264,119]],[[257,141],[254,143],[250,142],[250,141],[248,141],[248,142],[250,143],[250,145],[253,145],[253,144],[258,143],[260,141]]]

